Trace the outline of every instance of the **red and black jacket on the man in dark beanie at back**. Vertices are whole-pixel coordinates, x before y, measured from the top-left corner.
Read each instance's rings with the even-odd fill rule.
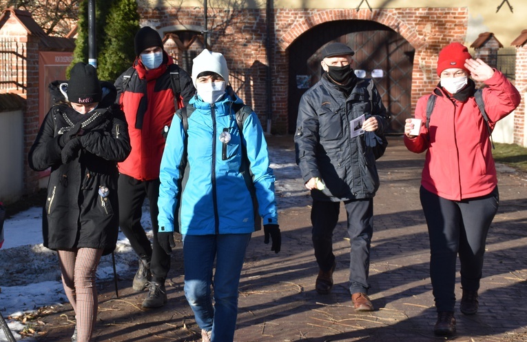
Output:
[[[177,68],[166,52],[164,61],[156,69],[146,70],[143,63],[136,59],[135,72],[132,74],[126,89],[123,89],[123,72],[115,81],[117,102],[125,112],[130,133],[132,152],[130,156],[118,163],[119,172],[140,181],[159,177],[159,165],[165,148],[163,128],[170,125],[176,108],[170,71]],[[192,79],[185,70],[178,68],[180,97],[187,105],[194,96]]]

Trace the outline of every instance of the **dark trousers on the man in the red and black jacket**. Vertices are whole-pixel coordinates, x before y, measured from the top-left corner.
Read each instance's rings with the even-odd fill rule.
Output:
[[[159,184],[159,179],[138,181],[125,174],[119,175],[119,225],[136,254],[141,258],[150,259],[152,281],[165,283],[170,269],[170,256],[163,251],[157,241]],[[148,199],[150,205],[150,219],[152,219],[152,231],[154,232],[152,245],[150,245],[141,225],[142,206],[145,198]]]

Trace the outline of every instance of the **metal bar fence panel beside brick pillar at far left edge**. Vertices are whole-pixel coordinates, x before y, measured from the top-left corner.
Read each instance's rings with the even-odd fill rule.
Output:
[[[26,92],[27,57],[25,44],[19,41],[0,39],[0,91],[18,90]]]

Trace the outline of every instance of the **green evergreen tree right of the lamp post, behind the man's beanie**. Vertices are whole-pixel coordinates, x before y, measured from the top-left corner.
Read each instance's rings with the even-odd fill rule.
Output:
[[[99,54],[99,79],[114,81],[132,66],[134,36],[139,30],[136,0],[114,0],[107,15],[105,41]]]

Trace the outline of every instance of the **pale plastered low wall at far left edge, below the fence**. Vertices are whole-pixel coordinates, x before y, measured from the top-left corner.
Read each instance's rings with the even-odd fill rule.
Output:
[[[0,112],[0,201],[13,202],[23,193],[23,113]]]

